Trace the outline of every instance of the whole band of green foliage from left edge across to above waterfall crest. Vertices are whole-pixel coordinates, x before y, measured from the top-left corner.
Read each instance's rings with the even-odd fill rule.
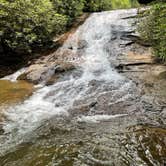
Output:
[[[48,45],[83,11],[130,7],[135,0],[0,0],[0,53]]]

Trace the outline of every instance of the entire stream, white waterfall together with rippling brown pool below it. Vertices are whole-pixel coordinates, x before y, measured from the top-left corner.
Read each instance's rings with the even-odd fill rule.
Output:
[[[1,166],[166,165],[165,108],[146,101],[112,63],[136,15],[92,14],[58,50],[78,55],[76,69],[4,108]]]

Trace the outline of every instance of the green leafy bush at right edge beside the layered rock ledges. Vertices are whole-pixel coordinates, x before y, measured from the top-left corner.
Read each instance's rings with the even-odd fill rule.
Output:
[[[146,14],[139,26],[142,38],[152,44],[157,57],[166,60],[166,4],[154,4]]]

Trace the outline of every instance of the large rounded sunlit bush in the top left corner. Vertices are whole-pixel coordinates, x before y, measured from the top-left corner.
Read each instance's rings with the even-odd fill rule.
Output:
[[[49,42],[66,24],[49,0],[0,0],[0,20],[1,44],[18,53]]]

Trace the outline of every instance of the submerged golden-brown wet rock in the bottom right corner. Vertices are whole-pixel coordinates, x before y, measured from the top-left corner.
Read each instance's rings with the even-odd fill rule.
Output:
[[[125,137],[122,146],[126,147],[127,153],[137,151],[137,158],[147,165],[166,164],[165,128],[148,125],[132,126]]]

